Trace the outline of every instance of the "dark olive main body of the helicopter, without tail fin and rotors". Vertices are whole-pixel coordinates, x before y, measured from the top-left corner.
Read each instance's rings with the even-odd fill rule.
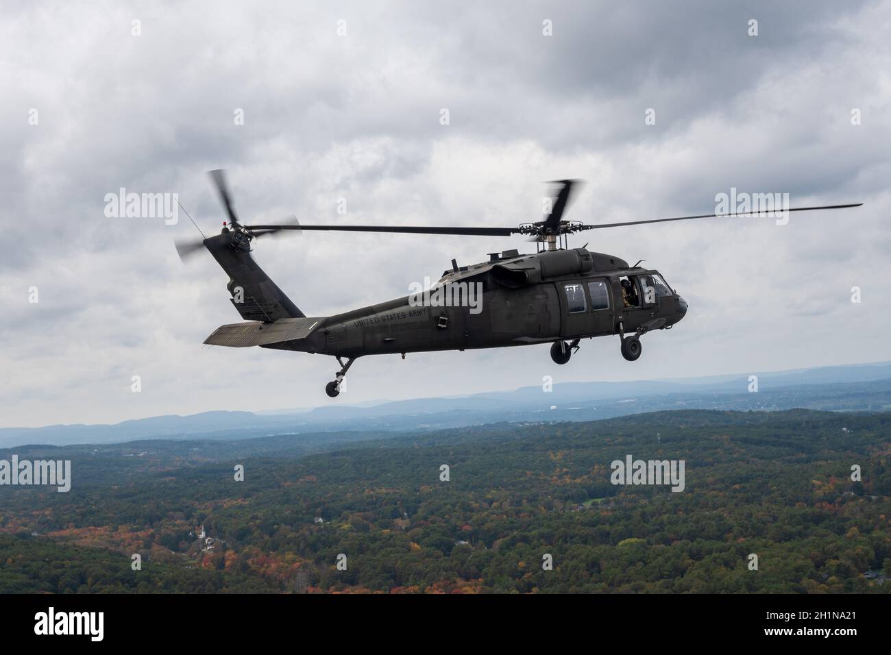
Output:
[[[686,309],[658,271],[623,259],[581,248],[513,250],[454,266],[427,294],[323,317],[306,339],[265,348],[358,357],[577,343],[670,328]]]

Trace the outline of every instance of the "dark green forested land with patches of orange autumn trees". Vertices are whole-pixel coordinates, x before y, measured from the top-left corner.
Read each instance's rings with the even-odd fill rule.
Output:
[[[0,487],[0,591],[891,590],[891,414],[660,412],[310,454],[305,438],[262,457],[54,448],[69,493]],[[683,460],[683,491],[614,485],[627,455]]]

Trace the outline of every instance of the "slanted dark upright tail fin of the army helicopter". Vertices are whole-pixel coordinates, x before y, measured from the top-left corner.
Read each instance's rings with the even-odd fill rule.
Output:
[[[205,239],[204,245],[229,274],[226,288],[232,294],[233,306],[245,321],[272,323],[280,318],[306,316],[257,266],[249,251],[233,249],[229,233]]]

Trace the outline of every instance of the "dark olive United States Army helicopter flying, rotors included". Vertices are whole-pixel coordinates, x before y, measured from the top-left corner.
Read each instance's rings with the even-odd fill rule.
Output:
[[[229,275],[227,288],[244,323],[223,325],[204,343],[245,348],[296,350],[337,358],[340,370],[325,387],[330,397],[356,358],[433,350],[502,348],[551,343],[551,357],[566,364],[583,339],[618,335],[622,355],[641,356],[641,337],[667,330],[687,314],[687,303],[657,270],[628,266],[625,259],[583,248],[569,249],[567,235],[624,225],[666,223],[693,218],[764,214],[775,209],[656,218],[585,225],[562,220],[573,180],[563,180],[550,215],[517,227],[425,227],[420,225],[242,225],[233,209],[223,171],[211,171],[229,217],[221,233],[195,242],[177,242],[180,257],[206,247]],[[785,211],[842,209],[858,204],[802,207]],[[517,250],[491,253],[486,262],[458,266],[452,260],[429,293],[414,293],[333,316],[307,316],[250,256],[250,242],[287,230],[333,230],[411,234],[511,236],[535,241],[535,254]],[[472,285],[472,286],[470,286]],[[450,291],[458,290],[458,294]],[[461,296],[475,300],[448,302]],[[470,298],[474,290],[481,296]],[[445,293],[443,293],[445,291]],[[441,300],[445,296],[446,302]],[[435,301],[435,299],[439,301]],[[347,359],[344,363],[344,358]]]

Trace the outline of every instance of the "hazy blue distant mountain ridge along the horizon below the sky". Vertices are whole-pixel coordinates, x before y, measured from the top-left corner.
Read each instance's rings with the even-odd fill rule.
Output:
[[[758,393],[748,376],[758,376]],[[413,398],[377,405],[327,405],[251,413],[164,415],[115,425],[0,429],[0,447],[114,443],[142,438],[233,439],[307,430],[431,430],[501,421],[582,421],[655,409],[891,408],[891,363],[847,364],[771,373],[675,380],[565,382],[551,393],[521,387],[466,397]],[[552,410],[556,407],[558,411]]]

